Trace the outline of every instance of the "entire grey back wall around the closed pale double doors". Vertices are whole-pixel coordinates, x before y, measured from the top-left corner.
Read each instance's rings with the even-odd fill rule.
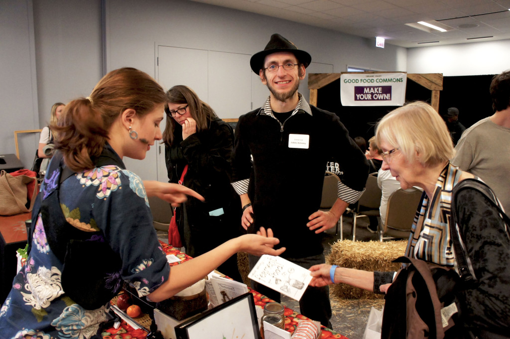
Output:
[[[14,130],[46,125],[54,102],[87,96],[103,68],[131,66],[155,76],[158,44],[252,55],[264,48],[271,34],[280,33],[307,50],[314,62],[332,64],[334,72],[345,71],[347,64],[406,69],[405,48],[376,48],[372,39],[217,6],[184,0],[104,0],[103,31],[101,0],[37,0],[33,14],[32,1],[0,2],[2,154],[15,152]],[[259,86],[263,85],[252,82],[252,93],[265,90]],[[253,102],[253,107],[261,104]],[[37,147],[38,138],[33,139],[23,151],[29,159],[25,166],[31,165]],[[126,165],[154,179],[156,151],[155,147],[143,162],[126,159]]]

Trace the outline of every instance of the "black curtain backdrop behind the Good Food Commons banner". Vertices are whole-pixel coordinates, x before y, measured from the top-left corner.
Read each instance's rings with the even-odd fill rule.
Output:
[[[489,86],[494,75],[445,76],[439,96],[439,112],[449,107],[459,111],[458,120],[468,128],[476,121],[493,114]],[[430,103],[431,91],[407,80],[406,101],[422,100]],[[340,103],[340,79],[319,89],[317,106],[333,112],[349,131],[349,136],[361,136],[368,141],[374,135],[375,123],[395,106],[350,107]]]

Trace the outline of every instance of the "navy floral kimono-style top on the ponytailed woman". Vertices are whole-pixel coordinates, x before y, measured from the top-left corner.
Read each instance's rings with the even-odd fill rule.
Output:
[[[145,296],[168,279],[170,266],[152,225],[142,180],[124,169],[108,144],[105,152],[115,165],[65,179],[60,186],[60,209],[69,224],[94,234],[91,241],[107,242],[118,253],[121,269],[108,277],[112,297],[125,279],[136,286],[140,297]],[[58,186],[61,167],[54,165],[57,158],[50,165],[39,198],[46,199]],[[101,323],[108,320],[109,305],[88,310],[66,295],[61,284],[63,265],[48,244],[39,210],[33,212],[32,219],[36,222],[27,264],[14,278],[0,308],[0,338],[89,339],[97,335]]]

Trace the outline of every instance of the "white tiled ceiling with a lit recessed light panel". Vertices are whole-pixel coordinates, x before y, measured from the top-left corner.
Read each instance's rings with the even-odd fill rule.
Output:
[[[391,44],[422,47],[418,41],[440,40],[438,44],[469,43],[467,37],[494,35],[492,40],[510,39],[510,0],[192,0],[214,6],[300,22],[371,37],[388,37]],[[275,10],[282,8],[285,10]],[[469,17],[466,13],[493,14]],[[404,24],[438,20],[454,28],[441,35],[423,32]],[[453,21],[452,21],[453,20]],[[477,28],[460,29],[463,23]],[[411,33],[409,33],[411,32]],[[391,42],[390,42],[391,39]],[[476,42],[477,40],[473,41]],[[437,44],[436,44],[437,45]]]

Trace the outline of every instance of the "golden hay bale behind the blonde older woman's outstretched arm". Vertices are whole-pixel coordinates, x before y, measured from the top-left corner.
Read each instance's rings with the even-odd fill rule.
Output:
[[[404,255],[406,245],[407,240],[382,243],[379,241],[337,241],[331,245],[331,252],[326,256],[326,263],[365,271],[396,271],[400,264],[392,263],[392,260]],[[384,297],[344,283],[330,285],[329,293],[344,299]]]

